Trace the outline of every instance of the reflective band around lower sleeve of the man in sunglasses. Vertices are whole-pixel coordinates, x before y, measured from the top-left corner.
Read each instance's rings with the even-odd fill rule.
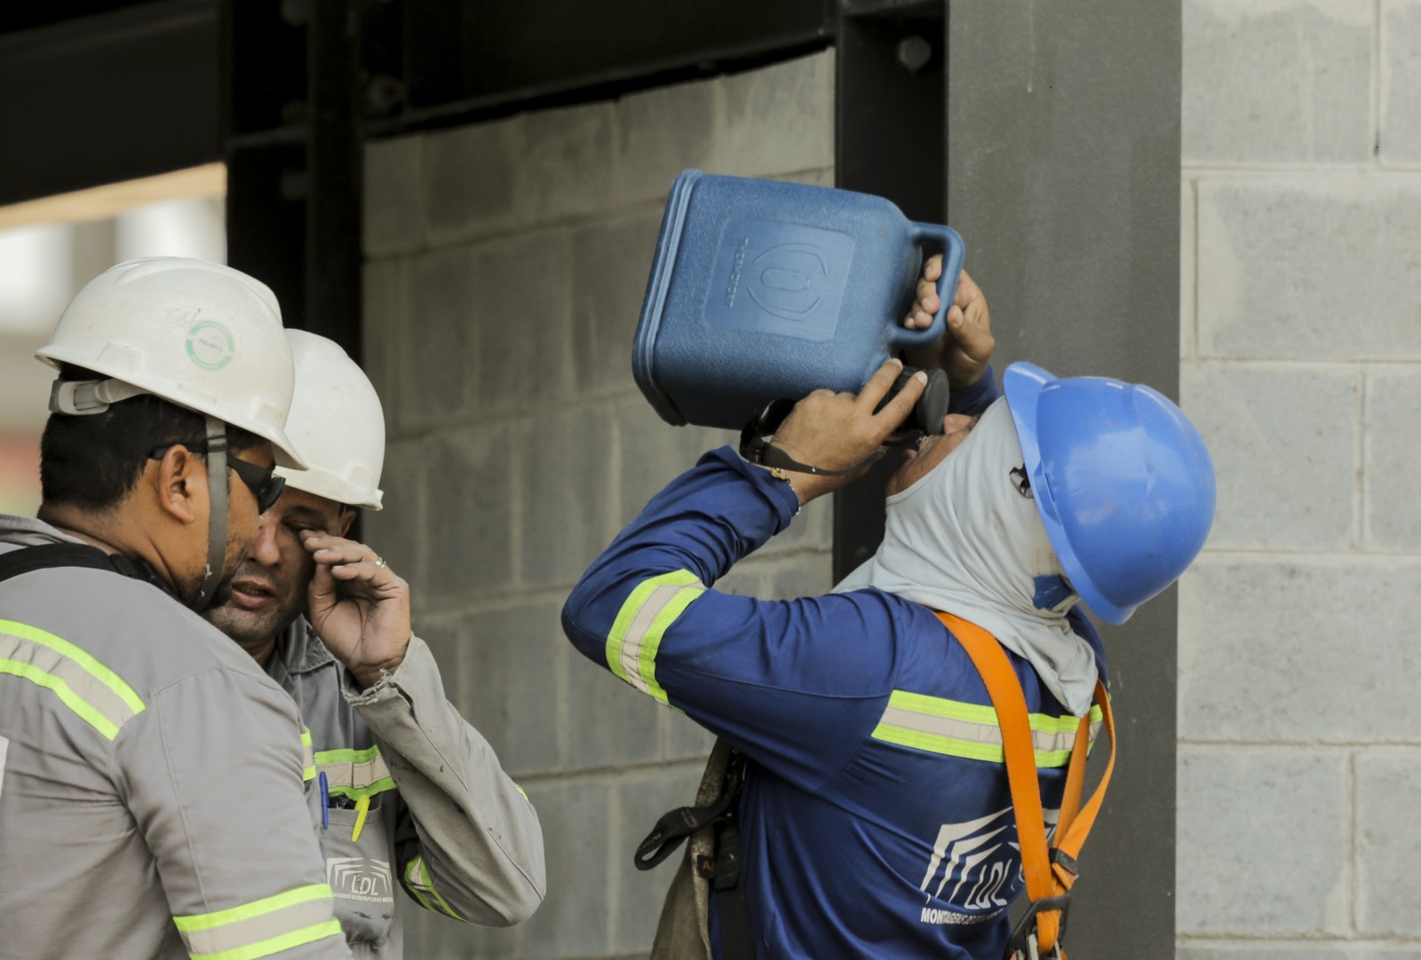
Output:
[[[310,883],[252,903],[175,916],[189,956],[254,960],[341,933],[327,883]]]

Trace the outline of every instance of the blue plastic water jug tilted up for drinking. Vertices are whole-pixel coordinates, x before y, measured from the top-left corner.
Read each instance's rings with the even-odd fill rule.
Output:
[[[942,307],[929,328],[907,329],[924,249],[944,254]],[[935,342],[961,270],[955,230],[882,197],[685,170],[661,220],[632,373],[668,423],[740,429],[780,398],[857,392],[897,351]]]

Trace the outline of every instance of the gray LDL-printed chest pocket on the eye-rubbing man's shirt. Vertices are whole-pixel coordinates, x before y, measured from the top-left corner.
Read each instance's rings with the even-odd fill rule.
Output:
[[[350,943],[381,944],[395,922],[394,851],[381,815],[381,798],[371,800],[360,839],[352,841],[357,812],[331,808],[330,827],[320,829],[325,882],[335,895],[335,919]]]

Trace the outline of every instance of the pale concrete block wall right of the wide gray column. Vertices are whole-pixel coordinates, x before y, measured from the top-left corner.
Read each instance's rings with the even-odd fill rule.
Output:
[[[1178,956],[1421,957],[1421,1],[1182,9]]]

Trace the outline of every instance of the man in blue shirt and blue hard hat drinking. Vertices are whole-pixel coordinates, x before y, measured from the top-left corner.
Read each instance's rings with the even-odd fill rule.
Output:
[[[911,325],[936,308],[919,295]],[[934,611],[1007,650],[1050,809],[1104,670],[1077,602],[1124,622],[1184,571],[1212,520],[1208,453],[1169,400],[1025,364],[1000,398],[969,278],[952,314],[944,432],[892,476],[884,542],[836,592],[713,589],[850,480],[720,449],[647,504],[563,612],[585,656],[747,756],[736,819],[756,957],[1002,957],[1022,889],[1002,737]],[[804,398],[773,447],[820,470],[864,462],[922,392],[918,373],[878,410],[899,371],[888,361],[857,396]],[[710,953],[739,960],[719,910],[712,900]]]

